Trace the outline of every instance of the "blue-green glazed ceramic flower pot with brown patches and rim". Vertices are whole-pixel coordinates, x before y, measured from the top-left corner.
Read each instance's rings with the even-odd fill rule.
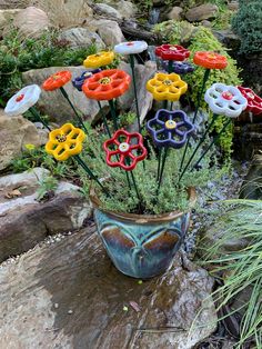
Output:
[[[170,266],[188,231],[190,210],[164,215],[118,213],[101,209],[94,192],[98,233],[115,268],[133,278],[152,278]],[[190,206],[195,190],[189,189]]]

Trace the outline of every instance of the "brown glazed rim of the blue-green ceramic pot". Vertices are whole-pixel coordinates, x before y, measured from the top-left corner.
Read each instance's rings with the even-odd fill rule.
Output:
[[[115,211],[109,211],[105,209],[101,208],[101,201],[98,198],[94,189],[91,187],[90,189],[90,201],[92,202],[93,207],[99,209],[100,211],[115,218],[115,219],[121,219],[124,221],[130,221],[133,222],[135,221],[137,223],[140,225],[145,225],[148,222],[151,223],[161,223],[165,221],[171,221],[174,219],[178,219],[182,217],[184,213],[190,212],[191,209],[194,207],[196,202],[196,191],[194,187],[188,188],[188,193],[189,193],[189,209],[185,211],[180,211],[180,210],[174,210],[168,213],[162,213],[162,215],[137,215],[137,213],[123,213],[123,212],[115,212]]]

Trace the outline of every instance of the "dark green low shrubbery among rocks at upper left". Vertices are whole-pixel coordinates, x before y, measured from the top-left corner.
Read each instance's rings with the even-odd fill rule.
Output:
[[[97,52],[95,44],[71,49],[58,39],[58,32],[46,32],[39,39],[21,40],[12,29],[0,42],[0,96],[8,100],[22,87],[21,72],[47,67],[82,64],[83,59]]]

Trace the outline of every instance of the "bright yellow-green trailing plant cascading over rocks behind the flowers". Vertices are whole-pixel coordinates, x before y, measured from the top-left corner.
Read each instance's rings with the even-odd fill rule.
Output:
[[[181,22],[180,24],[180,22],[168,21],[161,23],[161,26],[157,26],[155,30],[157,31],[161,30],[161,32],[165,32],[167,28],[169,29],[171,28],[171,31],[168,32],[169,42],[179,43],[183,38],[183,31],[185,26],[187,24],[183,22]],[[215,51],[222,56],[225,56],[228,59],[228,67],[225,69],[211,70],[205,89],[210,88],[214,82],[222,82],[231,86],[241,84],[241,80],[239,78],[240,70],[236,68],[235,60],[233,60],[229,56],[226,49],[222,46],[222,43],[219,42],[219,40],[215,39],[210,29],[199,26],[198,28],[194,28],[193,31],[191,30],[191,38],[188,48],[191,51],[190,58],[191,61],[193,60],[193,56],[196,51]],[[194,106],[196,104],[198,96],[203,81],[203,76],[204,69],[198,67],[193,73],[187,74],[183,78],[189,84],[189,98]],[[208,104],[204,102],[203,99],[201,102],[201,108],[208,110]],[[218,132],[222,129],[225,121],[226,118],[221,117],[215,122],[215,130]],[[228,130],[223,132],[223,134],[220,137],[220,144],[226,156],[229,156],[231,152],[232,138],[233,138],[232,127],[231,128],[229,127]]]

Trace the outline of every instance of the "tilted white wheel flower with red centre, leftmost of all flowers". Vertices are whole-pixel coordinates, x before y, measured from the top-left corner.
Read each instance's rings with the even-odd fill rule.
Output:
[[[38,102],[40,94],[41,89],[38,84],[26,86],[9,99],[4,112],[9,117],[22,114]]]

